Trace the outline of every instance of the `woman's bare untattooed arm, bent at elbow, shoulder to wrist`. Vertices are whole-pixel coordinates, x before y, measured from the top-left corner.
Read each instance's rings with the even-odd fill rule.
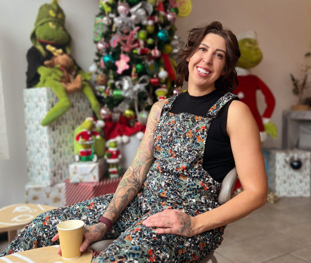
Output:
[[[267,202],[268,182],[259,130],[246,104],[237,100],[230,104],[227,133],[243,192],[192,218],[195,234],[239,220]]]

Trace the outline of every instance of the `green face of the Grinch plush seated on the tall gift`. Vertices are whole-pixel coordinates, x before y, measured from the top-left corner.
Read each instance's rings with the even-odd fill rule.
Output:
[[[46,22],[35,30],[37,39],[50,41],[58,44],[66,44],[69,41],[67,32],[57,22]]]

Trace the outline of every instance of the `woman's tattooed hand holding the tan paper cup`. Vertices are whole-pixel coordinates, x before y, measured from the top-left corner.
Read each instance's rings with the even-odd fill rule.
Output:
[[[86,250],[86,248],[95,241],[100,240],[105,234],[107,234],[108,227],[104,223],[97,223],[90,226],[85,226],[83,229],[83,240],[82,244],[80,246],[80,251],[83,252]],[[52,241],[58,240],[58,234],[56,234]],[[58,247],[57,254],[59,256],[62,256],[62,250],[61,247]]]

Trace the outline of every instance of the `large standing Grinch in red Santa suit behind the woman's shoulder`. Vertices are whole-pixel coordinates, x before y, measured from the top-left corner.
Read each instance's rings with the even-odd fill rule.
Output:
[[[238,95],[239,100],[247,104],[257,122],[261,141],[265,141],[267,134],[273,138],[277,136],[277,128],[270,121],[275,107],[275,99],[267,85],[257,76],[252,75],[250,68],[257,66],[262,60],[262,52],[258,47],[254,31],[248,31],[237,36],[241,57],[238,60],[236,71],[238,73],[239,85],[233,92]],[[267,104],[264,113],[260,115],[256,103],[256,91],[260,90]]]

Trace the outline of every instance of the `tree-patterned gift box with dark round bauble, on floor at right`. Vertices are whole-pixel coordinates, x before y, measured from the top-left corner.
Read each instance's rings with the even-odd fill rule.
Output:
[[[269,151],[269,188],[278,196],[310,196],[311,152]]]

